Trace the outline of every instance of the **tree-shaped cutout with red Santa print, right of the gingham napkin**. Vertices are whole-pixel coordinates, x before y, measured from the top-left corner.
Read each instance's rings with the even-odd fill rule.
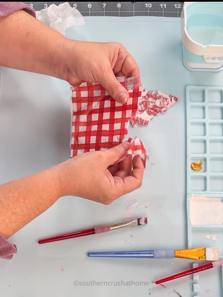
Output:
[[[165,113],[167,108],[174,105],[179,98],[164,94],[161,91],[148,92],[147,90],[142,91],[142,97],[139,99],[138,110],[136,116],[131,119],[133,127],[137,123],[139,125],[148,125],[153,116],[158,116],[159,113]]]

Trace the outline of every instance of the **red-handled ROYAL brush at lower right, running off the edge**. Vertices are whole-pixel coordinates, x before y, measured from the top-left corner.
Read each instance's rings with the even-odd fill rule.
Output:
[[[218,267],[220,265],[223,265],[223,259],[221,260],[218,260],[218,261],[213,261],[211,263],[208,263],[208,264],[205,264],[205,265],[201,265],[201,266],[198,266],[196,268],[192,268],[192,269],[189,269],[189,270],[186,270],[186,271],[183,271],[183,272],[180,272],[178,274],[174,274],[170,277],[166,277],[164,279],[159,279],[155,282],[155,284],[161,284],[163,282],[168,282],[169,280],[172,280],[172,279],[177,279],[179,277],[185,277],[186,275],[190,275],[190,274],[194,274],[194,273],[197,273],[197,272],[201,272],[203,270],[207,270],[207,269],[210,269],[210,268],[213,268],[213,267]]]

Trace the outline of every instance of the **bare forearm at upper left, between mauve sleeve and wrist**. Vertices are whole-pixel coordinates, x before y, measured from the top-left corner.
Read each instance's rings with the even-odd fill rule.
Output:
[[[59,32],[23,10],[0,18],[2,66],[66,79],[67,42]]]

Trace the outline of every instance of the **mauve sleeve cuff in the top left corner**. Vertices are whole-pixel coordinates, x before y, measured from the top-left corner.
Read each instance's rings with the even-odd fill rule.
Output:
[[[0,2],[0,17],[7,17],[22,9],[36,18],[35,10],[23,2]]]

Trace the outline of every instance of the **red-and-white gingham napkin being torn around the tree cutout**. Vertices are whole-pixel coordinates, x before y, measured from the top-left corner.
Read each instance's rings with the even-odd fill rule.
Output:
[[[128,134],[128,125],[136,115],[138,100],[143,86],[139,78],[117,78],[128,89],[126,104],[116,102],[106,90],[97,83],[82,83],[72,89],[72,131],[71,157],[89,151],[109,149],[123,142]],[[131,144],[131,154],[138,154],[141,142]],[[143,145],[142,145],[143,147]],[[144,147],[143,147],[144,154]]]

